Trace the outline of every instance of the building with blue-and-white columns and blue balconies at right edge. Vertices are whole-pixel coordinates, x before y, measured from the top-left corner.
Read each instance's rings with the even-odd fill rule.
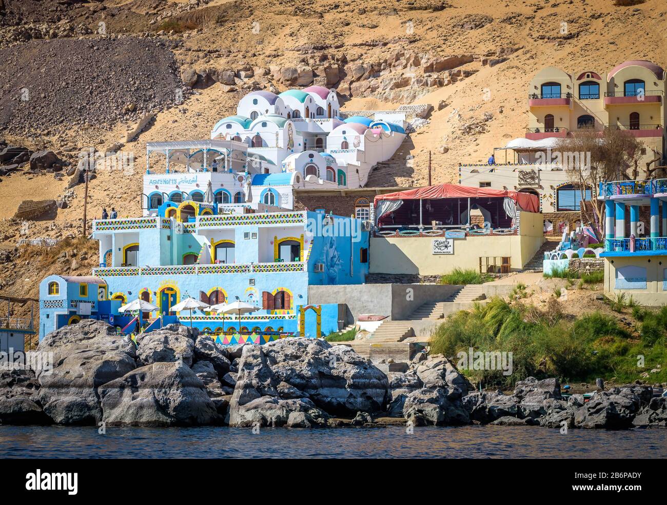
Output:
[[[605,292],[667,303],[667,179],[600,183],[598,199],[605,204]]]

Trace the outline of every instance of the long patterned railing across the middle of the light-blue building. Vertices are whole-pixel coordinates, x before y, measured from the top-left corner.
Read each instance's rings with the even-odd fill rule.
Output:
[[[162,266],[111,266],[93,268],[100,277],[129,277],[145,275],[198,275],[198,274],[255,274],[271,272],[305,272],[303,261],[270,263],[213,263],[177,264]]]

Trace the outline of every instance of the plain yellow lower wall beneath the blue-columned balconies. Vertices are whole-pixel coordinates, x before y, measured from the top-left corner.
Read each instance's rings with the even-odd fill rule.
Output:
[[[661,306],[667,304],[667,290],[662,289],[663,270],[667,268],[666,256],[624,256],[604,258],[604,292],[613,297],[624,292],[627,297],[642,305]],[[613,261],[613,263],[612,263]],[[660,264],[662,262],[662,264]],[[616,268],[622,266],[641,266],[646,268],[646,289],[615,289]]]

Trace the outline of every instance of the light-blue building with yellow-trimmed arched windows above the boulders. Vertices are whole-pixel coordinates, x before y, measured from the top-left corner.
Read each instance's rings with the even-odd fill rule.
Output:
[[[361,220],[307,211],[217,210],[215,203],[167,201],[157,216],[95,221],[100,266],[90,278],[43,280],[40,338],[75,322],[81,302],[90,304],[89,316],[124,326],[129,314],[117,309],[136,298],[159,306],[143,314],[148,330],[177,316],[223,343],[235,343],[239,335],[265,342],[342,328],[342,306],[309,305],[308,286],[365,281],[369,233]],[[191,318],[175,314],[171,307],[188,296],[211,305],[241,300],[257,310],[240,320],[200,311]]]

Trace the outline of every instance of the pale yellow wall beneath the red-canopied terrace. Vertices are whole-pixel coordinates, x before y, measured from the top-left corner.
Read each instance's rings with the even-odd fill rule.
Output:
[[[454,239],[454,254],[433,254],[433,237],[372,237],[370,272],[442,275],[456,267],[479,270],[480,256],[510,256],[512,270],[519,270],[544,242],[542,221],[540,213],[520,213],[519,235]]]

